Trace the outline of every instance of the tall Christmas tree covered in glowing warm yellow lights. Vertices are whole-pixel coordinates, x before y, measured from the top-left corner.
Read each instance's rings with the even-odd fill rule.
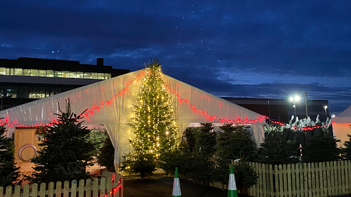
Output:
[[[155,58],[148,65],[134,105],[130,145],[139,155],[150,154],[158,158],[161,153],[178,147],[178,127],[161,65]]]

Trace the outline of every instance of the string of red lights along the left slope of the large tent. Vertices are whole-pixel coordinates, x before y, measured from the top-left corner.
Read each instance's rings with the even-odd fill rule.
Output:
[[[122,94],[123,92],[125,92],[126,90],[128,90],[128,86],[133,83],[134,81],[136,81],[136,79],[139,79],[141,77],[142,74],[145,73],[145,70],[141,71],[141,73],[139,73],[138,75],[136,75],[136,77],[132,80],[129,81],[127,83],[127,86],[125,86],[125,88],[123,88],[123,90],[119,91],[119,93],[115,94],[114,96],[112,96],[112,98],[108,101],[105,101],[104,103],[101,103],[101,105],[99,105],[98,107],[93,107],[90,110],[87,110],[86,113],[82,114],[83,116],[88,116],[88,114],[93,113],[93,111],[96,110],[100,110],[100,107],[104,107],[105,104],[110,104],[112,102],[113,99],[115,99],[118,95]],[[8,124],[6,121],[5,122],[1,122],[0,125],[4,125],[4,124],[8,124],[9,127],[13,127],[14,125],[16,125],[16,127],[40,127],[40,126],[53,126],[53,123],[61,123],[61,121],[56,121],[53,120],[52,122],[48,122],[47,124],[43,124],[42,122],[38,123],[38,124],[19,124],[18,122],[14,122],[13,124]]]

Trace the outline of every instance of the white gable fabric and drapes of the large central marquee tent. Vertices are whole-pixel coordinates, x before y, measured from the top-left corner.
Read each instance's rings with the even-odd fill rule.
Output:
[[[57,120],[54,114],[64,109],[65,99],[71,101],[71,109],[80,114],[88,109],[84,124],[104,124],[116,150],[114,162],[119,163],[121,154],[128,153],[128,138],[131,137],[133,104],[145,75],[144,70],[99,81],[45,99],[26,103],[0,111],[5,118],[6,127],[36,127]],[[228,122],[252,126],[256,144],[261,144],[265,116],[230,103],[213,94],[209,94],[189,84],[163,75],[165,85],[175,110],[175,118],[180,128],[180,135],[191,122]],[[3,119],[4,120],[4,119]],[[11,129],[11,128],[9,128]]]

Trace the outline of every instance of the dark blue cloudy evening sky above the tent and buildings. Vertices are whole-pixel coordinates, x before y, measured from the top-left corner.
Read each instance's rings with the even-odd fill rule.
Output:
[[[350,10],[350,0],[6,0],[0,58],[104,57],[134,71],[156,56],[163,73],[216,96],[307,92],[337,112],[351,105]]]

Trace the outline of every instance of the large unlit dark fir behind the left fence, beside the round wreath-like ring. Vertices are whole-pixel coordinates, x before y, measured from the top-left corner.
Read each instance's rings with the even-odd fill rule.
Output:
[[[45,127],[44,140],[39,146],[38,157],[32,160],[36,164],[33,183],[51,181],[72,181],[88,179],[86,166],[93,159],[94,146],[88,142],[90,130],[82,126],[82,114],[71,113],[70,102],[66,112],[61,111],[58,122],[52,127]]]

